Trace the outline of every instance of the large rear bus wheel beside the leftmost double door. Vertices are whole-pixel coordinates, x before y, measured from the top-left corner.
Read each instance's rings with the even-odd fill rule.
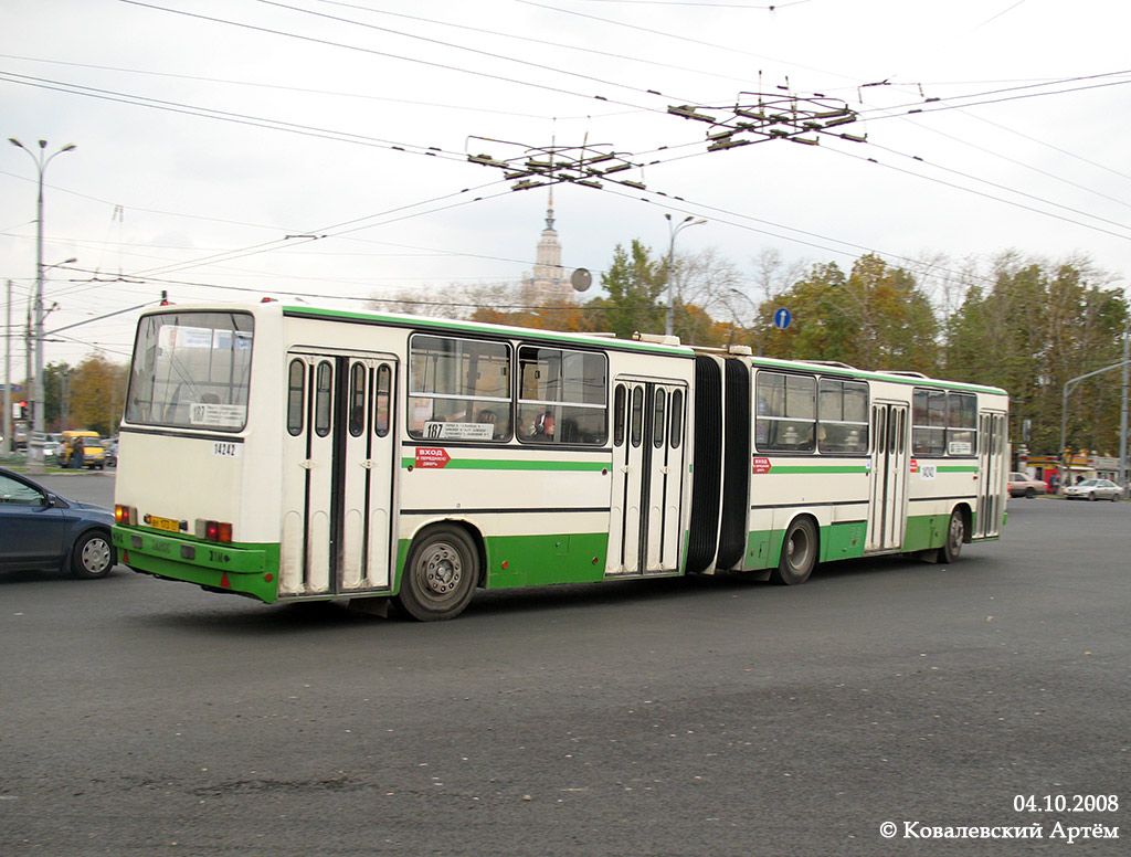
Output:
[[[460,527],[441,523],[413,542],[397,605],[417,622],[455,618],[475,595],[480,552]]]

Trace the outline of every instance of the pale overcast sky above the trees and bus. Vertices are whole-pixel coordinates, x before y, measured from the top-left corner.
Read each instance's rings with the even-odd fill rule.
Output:
[[[0,130],[77,146],[46,170],[44,263],[78,259],[48,271],[48,330],[163,288],[356,305],[517,282],[546,189],[467,156],[552,144],[645,184],[554,188],[563,263],[595,279],[618,243],[666,252],[671,213],[709,220],[677,251],[716,248],[754,300],[766,249],[846,269],[1085,253],[1122,285],[1129,33],[1117,0],[3,0]],[[757,93],[820,93],[858,115],[830,130],[867,141],[709,153],[717,129],[667,113],[733,116]],[[21,376],[36,167],[0,154]],[[46,360],[124,360],[135,321],[64,330]]]

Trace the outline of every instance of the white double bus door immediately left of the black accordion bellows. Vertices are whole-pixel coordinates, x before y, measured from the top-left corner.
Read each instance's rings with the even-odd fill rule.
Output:
[[[679,571],[685,424],[682,382],[616,380],[606,575]]]

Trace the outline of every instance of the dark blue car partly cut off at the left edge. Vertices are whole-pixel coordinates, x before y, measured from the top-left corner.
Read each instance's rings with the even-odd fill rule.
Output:
[[[68,569],[76,578],[103,578],[118,562],[113,523],[109,509],[64,500],[0,467],[0,569]]]

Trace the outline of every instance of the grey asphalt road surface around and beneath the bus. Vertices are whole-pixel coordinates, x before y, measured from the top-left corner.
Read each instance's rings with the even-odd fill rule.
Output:
[[[1012,501],[951,566],[480,594],[426,625],[0,574],[0,854],[1126,854],[1129,520]],[[1119,839],[1069,843],[1095,824]]]

